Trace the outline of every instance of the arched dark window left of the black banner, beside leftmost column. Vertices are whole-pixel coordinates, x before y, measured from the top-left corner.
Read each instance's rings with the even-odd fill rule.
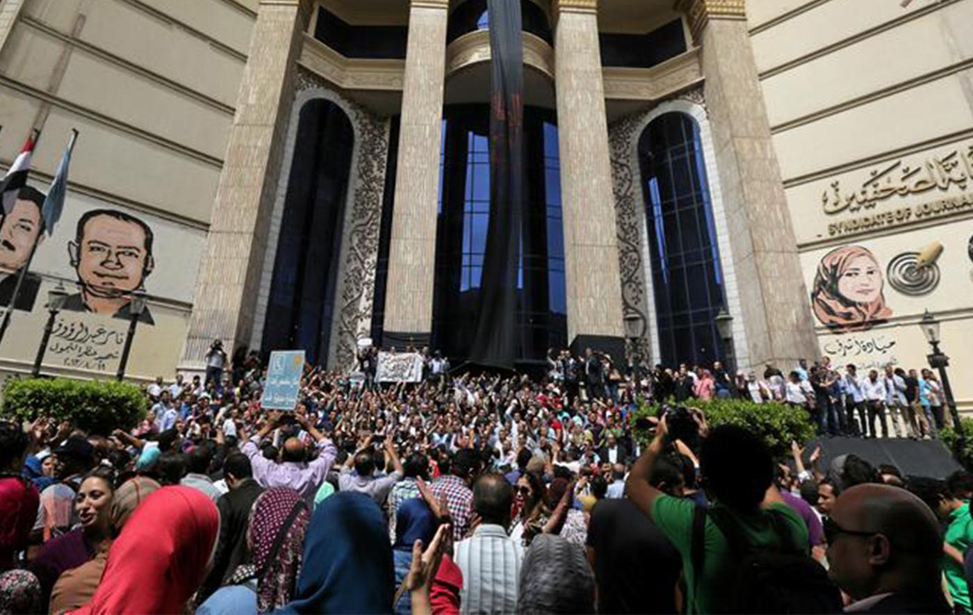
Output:
[[[325,364],[335,314],[354,130],[317,98],[301,109],[264,325],[264,350],[305,350]]]

